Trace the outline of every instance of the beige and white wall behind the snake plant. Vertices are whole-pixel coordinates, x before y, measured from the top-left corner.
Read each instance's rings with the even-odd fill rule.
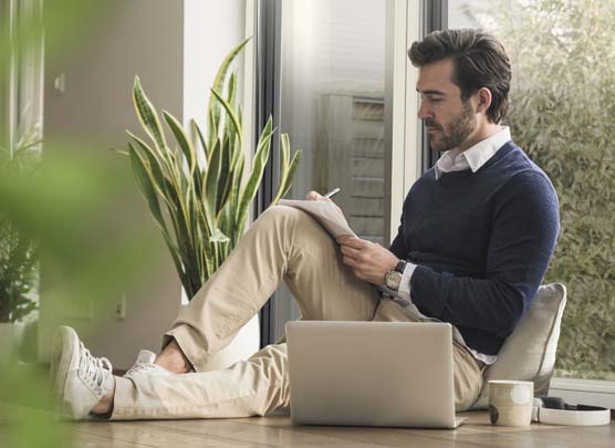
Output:
[[[105,149],[124,148],[124,129],[140,132],[131,101],[135,73],[157,107],[185,123],[192,117],[202,121],[217,66],[243,39],[244,0],[96,1],[113,12],[98,20],[79,52],[48,63],[45,136],[79,136],[84,142],[97,142],[97,147]],[[53,80],[61,73],[65,79],[64,94],[53,90]],[[129,169],[126,176],[132,176]],[[127,226],[135,228],[138,222],[152,229],[153,220],[136,186],[134,195],[125,200],[117,205],[117,212],[123,213]],[[90,327],[97,329],[85,342],[94,354],[110,357],[116,368],[129,367],[139,348],[159,348],[161,333],[179,306],[180,285],[161,237],[152,244],[159,256],[156,267],[148,280],[131,293],[123,321],[95,309],[93,320],[64,316],[59,322],[45,313],[54,303],[49,299],[45,302],[42,291],[41,361],[49,360],[51,334],[60,323],[73,325],[83,334]]]

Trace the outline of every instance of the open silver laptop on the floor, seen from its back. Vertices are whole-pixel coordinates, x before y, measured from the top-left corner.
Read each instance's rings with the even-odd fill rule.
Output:
[[[452,329],[431,322],[285,325],[300,425],[456,428]]]

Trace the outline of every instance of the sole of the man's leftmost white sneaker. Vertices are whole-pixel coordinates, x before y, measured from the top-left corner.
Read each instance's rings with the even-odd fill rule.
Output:
[[[64,390],[71,369],[71,362],[79,345],[79,336],[70,326],[60,326],[53,334],[51,355],[51,398],[52,411],[56,419],[70,418],[64,409]]]

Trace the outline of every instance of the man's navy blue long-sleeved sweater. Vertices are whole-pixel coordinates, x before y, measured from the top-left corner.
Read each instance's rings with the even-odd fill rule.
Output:
[[[512,142],[477,173],[434,168],[410,188],[390,246],[417,264],[410,296],[480,353],[497,354],[533,300],[560,231],[555,190]]]

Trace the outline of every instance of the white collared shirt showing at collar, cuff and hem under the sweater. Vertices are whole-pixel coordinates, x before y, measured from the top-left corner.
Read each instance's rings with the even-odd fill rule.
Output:
[[[497,134],[477,143],[475,146],[469,147],[462,153],[459,153],[459,149],[457,148],[447,150],[442,154],[438,162],[436,162],[436,166],[434,168],[436,180],[438,180],[444,174],[450,171],[463,171],[466,169],[471,169],[472,173],[478,171],[510,139],[510,128],[508,126],[502,126]],[[393,291],[389,293],[393,293],[392,295],[395,295],[396,299],[400,300],[402,305],[408,308],[414,313],[418,313],[421,319],[429,319],[418,311],[410,299],[410,279],[413,278],[415,269],[416,264],[407,263],[404,274],[402,275],[402,282],[399,283],[399,291],[396,294],[393,293]],[[466,346],[472,353],[475,358],[482,361],[488,365],[493,364],[498,360],[498,356],[478,353],[476,350],[468,347],[461,336],[461,333],[459,333],[455,326],[452,329],[455,338]]]

